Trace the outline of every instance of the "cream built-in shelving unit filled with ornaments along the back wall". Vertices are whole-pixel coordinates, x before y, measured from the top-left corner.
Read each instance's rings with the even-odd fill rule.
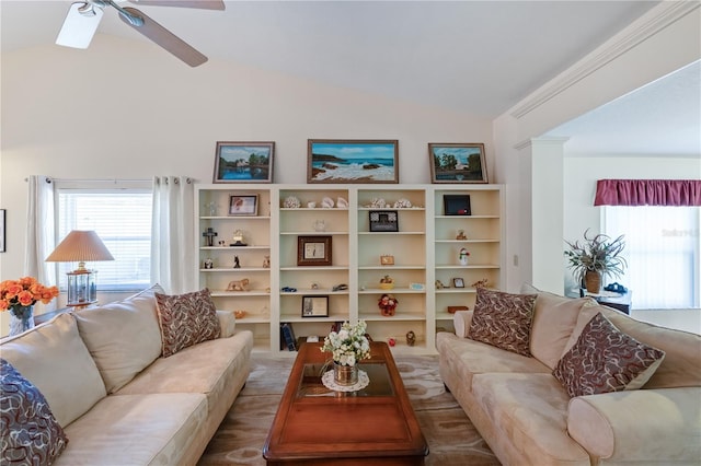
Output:
[[[257,196],[257,214],[229,215],[230,197],[249,195]],[[446,215],[445,195],[470,196],[471,214]],[[371,231],[375,211],[397,212],[399,231]],[[335,322],[365,319],[375,340],[395,340],[394,351],[433,353],[436,329],[452,328],[448,306],[472,307],[479,280],[496,289],[505,282],[501,185],[207,184],[195,186],[195,214],[197,282],[210,289],[218,308],[244,311],[237,326],[254,333],[256,350],[288,352],[280,349],[281,324],[297,337],[323,337]],[[211,246],[203,235],[210,228],[217,233]],[[456,238],[459,230],[467,238]],[[231,246],[237,231],[246,246]],[[331,237],[331,264],[299,265],[300,236]],[[458,261],[461,247],[470,252],[467,266]],[[391,290],[380,289],[387,275]],[[464,288],[455,288],[453,278]],[[227,291],[242,279],[248,291]],[[391,317],[378,307],[383,293],[399,301]],[[327,296],[329,316],[303,316],[304,296]]]

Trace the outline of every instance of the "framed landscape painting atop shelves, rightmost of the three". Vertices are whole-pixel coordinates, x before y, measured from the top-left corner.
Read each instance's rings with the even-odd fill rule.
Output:
[[[483,143],[428,143],[432,183],[489,183]]]

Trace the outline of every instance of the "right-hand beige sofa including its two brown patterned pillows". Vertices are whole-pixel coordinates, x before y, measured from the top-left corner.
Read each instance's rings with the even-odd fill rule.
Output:
[[[443,381],[504,465],[701,464],[701,336],[525,291],[479,290],[437,335]]]

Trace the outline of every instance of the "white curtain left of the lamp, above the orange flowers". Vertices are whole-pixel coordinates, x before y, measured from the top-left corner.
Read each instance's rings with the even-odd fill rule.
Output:
[[[26,215],[26,254],[24,255],[24,275],[35,277],[39,283],[55,286],[56,266],[45,259],[56,247],[54,217],[54,184],[51,178],[32,175],[27,178],[30,190]],[[44,308],[54,311],[58,300]]]

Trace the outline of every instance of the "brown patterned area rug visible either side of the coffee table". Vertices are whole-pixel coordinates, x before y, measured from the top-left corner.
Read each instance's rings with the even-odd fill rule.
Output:
[[[422,432],[428,442],[426,465],[497,466],[438,375],[436,356],[398,356],[397,366]],[[263,444],[292,366],[291,358],[252,357],[252,370],[217,433],[198,462],[207,465],[265,465]]]

